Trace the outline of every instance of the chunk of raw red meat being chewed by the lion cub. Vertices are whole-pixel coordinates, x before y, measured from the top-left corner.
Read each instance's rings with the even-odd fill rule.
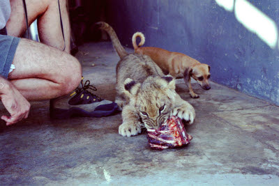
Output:
[[[152,149],[163,150],[185,146],[193,137],[186,133],[181,118],[172,116],[158,130],[147,129],[147,139]]]

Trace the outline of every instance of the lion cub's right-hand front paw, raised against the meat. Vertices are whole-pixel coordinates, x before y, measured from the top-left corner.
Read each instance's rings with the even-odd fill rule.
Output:
[[[195,119],[195,109],[192,105],[177,107],[170,112],[170,116],[177,116],[185,121],[189,121],[189,124],[192,124]]]

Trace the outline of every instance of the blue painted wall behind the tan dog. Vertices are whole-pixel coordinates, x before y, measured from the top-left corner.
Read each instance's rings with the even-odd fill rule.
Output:
[[[252,15],[248,8],[247,15],[240,18],[236,16],[236,3],[247,0],[233,1],[231,10],[216,1],[107,0],[107,22],[124,46],[132,47],[133,33],[142,31],[144,46],[187,54],[211,65],[214,82],[279,105],[279,1],[251,1],[250,8],[261,16]],[[276,45],[260,36],[270,38],[271,33],[257,34],[249,29],[246,18],[250,19],[247,24],[257,26],[255,30],[270,31],[273,22],[275,31],[271,33],[276,38],[271,37],[271,41]]]

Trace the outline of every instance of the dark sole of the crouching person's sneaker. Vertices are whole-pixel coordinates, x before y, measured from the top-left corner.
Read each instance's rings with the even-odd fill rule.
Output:
[[[110,116],[114,112],[118,111],[118,106],[110,111],[84,111],[83,109],[72,107],[70,109],[50,109],[50,118],[52,119],[65,119],[73,117],[90,117],[90,118],[100,118],[105,116]]]

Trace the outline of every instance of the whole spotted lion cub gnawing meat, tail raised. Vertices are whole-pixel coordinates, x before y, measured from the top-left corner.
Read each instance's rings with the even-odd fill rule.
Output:
[[[146,128],[157,129],[169,116],[193,123],[195,110],[176,93],[174,78],[165,76],[149,56],[128,54],[110,25],[97,24],[110,35],[121,58],[116,66],[115,100],[123,108],[119,134],[127,137],[139,134],[142,123]]]

